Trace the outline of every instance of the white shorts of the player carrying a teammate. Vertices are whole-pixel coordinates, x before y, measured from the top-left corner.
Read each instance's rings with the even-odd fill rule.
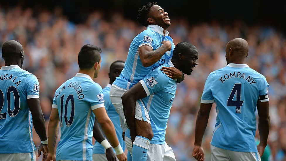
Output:
[[[147,153],[147,161],[176,161],[171,147],[165,144],[150,144]]]

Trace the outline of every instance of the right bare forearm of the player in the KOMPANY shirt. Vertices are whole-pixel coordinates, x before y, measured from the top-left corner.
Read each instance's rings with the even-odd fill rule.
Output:
[[[270,129],[269,116],[266,118],[258,117],[258,131],[260,136],[260,144],[263,146],[267,145],[269,129]]]

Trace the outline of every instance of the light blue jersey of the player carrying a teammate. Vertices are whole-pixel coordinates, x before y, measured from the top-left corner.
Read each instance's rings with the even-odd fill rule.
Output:
[[[163,66],[174,67],[169,61],[152,70],[139,81],[147,94],[147,97],[138,100],[138,103],[149,113],[154,133],[151,144],[165,144],[167,122],[177,89],[176,80],[169,78],[160,70]]]

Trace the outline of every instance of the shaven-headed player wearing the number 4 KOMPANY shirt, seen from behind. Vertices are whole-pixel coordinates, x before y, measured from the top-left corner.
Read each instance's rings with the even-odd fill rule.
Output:
[[[260,160],[269,133],[268,83],[265,77],[248,67],[248,43],[235,38],[226,46],[227,66],[207,77],[196,120],[193,157],[204,160],[202,137],[212,103],[216,103],[217,122],[211,141],[212,160]],[[260,143],[256,147],[256,116]],[[258,154],[259,152],[259,154]]]

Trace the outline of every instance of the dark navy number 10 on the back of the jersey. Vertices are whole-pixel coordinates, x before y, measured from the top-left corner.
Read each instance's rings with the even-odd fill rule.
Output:
[[[71,115],[69,117],[69,120],[67,118],[67,110],[68,110],[68,104],[69,101],[71,101]],[[74,121],[74,96],[72,94],[70,94],[67,99],[64,101],[64,95],[61,96],[61,123],[60,126],[63,126],[63,113],[64,113],[64,122],[66,123],[67,126],[71,126],[72,122]]]

